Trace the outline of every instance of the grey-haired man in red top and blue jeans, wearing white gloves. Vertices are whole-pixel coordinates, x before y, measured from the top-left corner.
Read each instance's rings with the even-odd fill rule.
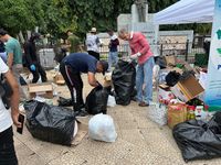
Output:
[[[119,38],[128,41],[131,50],[131,59],[138,61],[136,73],[137,101],[140,107],[147,107],[152,101],[152,67],[155,65],[150,46],[140,32],[120,30]]]

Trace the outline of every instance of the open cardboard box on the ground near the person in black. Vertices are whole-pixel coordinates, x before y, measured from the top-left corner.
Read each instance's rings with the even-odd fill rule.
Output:
[[[51,82],[29,84],[28,91],[31,98],[35,97],[36,95],[48,99],[53,98],[53,87]]]

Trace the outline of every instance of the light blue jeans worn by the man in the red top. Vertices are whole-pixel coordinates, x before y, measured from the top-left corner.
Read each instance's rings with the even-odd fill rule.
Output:
[[[152,68],[154,57],[147,59],[144,64],[138,64],[136,74],[137,101],[149,103],[152,101]]]

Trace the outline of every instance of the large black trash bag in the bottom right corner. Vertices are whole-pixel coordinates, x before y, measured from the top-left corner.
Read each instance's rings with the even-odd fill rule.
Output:
[[[221,112],[208,123],[190,120],[177,124],[172,134],[186,162],[221,157]]]

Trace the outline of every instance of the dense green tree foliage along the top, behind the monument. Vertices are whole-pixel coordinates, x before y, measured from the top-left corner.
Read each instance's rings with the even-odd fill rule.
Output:
[[[149,12],[158,12],[178,0],[148,0]],[[67,29],[84,36],[92,26],[99,32],[117,29],[117,16],[130,13],[134,0],[1,0],[0,26],[10,33],[33,30],[60,35]],[[193,29],[209,33],[211,24],[164,25],[160,30]],[[61,35],[60,35],[61,36]]]

